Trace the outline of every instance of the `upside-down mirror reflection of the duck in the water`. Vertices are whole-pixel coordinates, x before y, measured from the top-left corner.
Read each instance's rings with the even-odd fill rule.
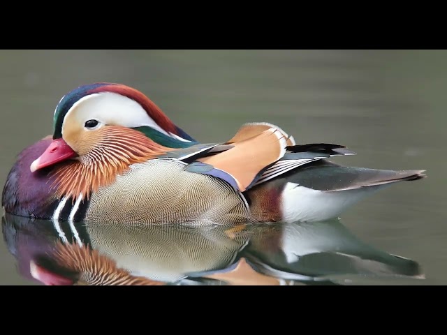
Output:
[[[337,285],[423,278],[338,220],[263,225],[58,223],[3,214],[20,274],[45,285]]]

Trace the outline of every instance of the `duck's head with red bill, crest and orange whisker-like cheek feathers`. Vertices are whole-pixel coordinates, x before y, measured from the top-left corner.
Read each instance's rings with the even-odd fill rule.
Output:
[[[129,165],[166,147],[196,143],[144,94],[122,84],[96,83],[64,96],[54,111],[52,142],[31,172],[64,162],[55,171],[58,195],[85,196]]]

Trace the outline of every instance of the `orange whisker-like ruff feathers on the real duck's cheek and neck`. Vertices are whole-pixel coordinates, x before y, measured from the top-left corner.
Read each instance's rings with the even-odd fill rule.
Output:
[[[166,154],[168,150],[139,131],[122,126],[105,126],[92,148],[79,161],[64,163],[52,172],[52,187],[56,188],[58,198],[72,196],[74,202],[82,194],[83,199],[88,199],[101,186],[112,184],[129,165]]]

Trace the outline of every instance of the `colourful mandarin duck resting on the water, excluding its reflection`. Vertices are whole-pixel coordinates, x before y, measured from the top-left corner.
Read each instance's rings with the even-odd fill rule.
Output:
[[[340,144],[297,144],[266,122],[243,124],[225,142],[198,142],[141,91],[98,82],[61,98],[53,134],[18,155],[2,206],[73,222],[314,222],[427,177],[330,161],[354,154]]]

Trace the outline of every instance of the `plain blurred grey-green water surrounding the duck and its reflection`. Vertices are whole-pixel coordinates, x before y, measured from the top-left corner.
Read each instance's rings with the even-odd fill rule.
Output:
[[[295,140],[344,144],[337,163],[426,169],[347,211],[360,239],[420,262],[447,284],[447,51],[444,50],[1,50],[0,184],[15,155],[52,132],[54,108],[81,84],[139,89],[203,142],[248,121]],[[0,284],[28,284],[0,241]]]

